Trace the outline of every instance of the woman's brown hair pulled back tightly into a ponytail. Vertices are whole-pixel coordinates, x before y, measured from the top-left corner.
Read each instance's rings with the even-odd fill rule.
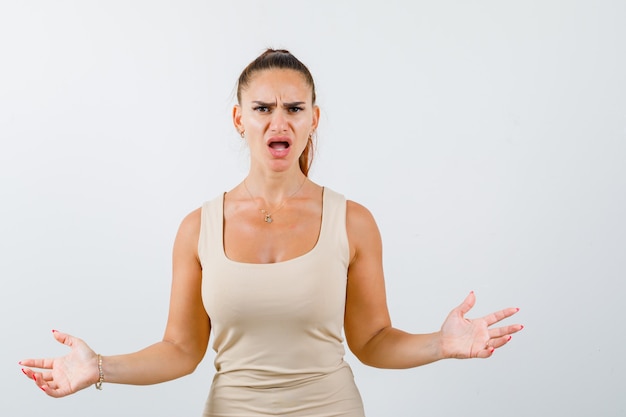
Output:
[[[290,69],[302,74],[306,83],[311,87],[312,104],[315,105],[315,82],[311,72],[306,65],[285,49],[266,49],[265,52],[244,68],[237,81],[237,101],[239,103],[241,103],[241,92],[248,87],[252,76],[259,71],[268,69]],[[308,176],[309,174],[314,153],[313,138],[309,136],[306,147],[299,159],[300,170],[304,175]]]

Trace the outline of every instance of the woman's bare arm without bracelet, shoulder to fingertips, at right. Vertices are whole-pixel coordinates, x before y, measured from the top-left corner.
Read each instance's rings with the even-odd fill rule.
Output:
[[[521,325],[489,328],[515,314],[509,308],[480,319],[465,314],[473,307],[471,293],[453,309],[441,330],[411,334],[391,324],[385,293],[380,232],[370,212],[348,202],[351,262],[344,327],[350,350],[363,363],[380,368],[411,368],[444,358],[489,357],[506,344]]]

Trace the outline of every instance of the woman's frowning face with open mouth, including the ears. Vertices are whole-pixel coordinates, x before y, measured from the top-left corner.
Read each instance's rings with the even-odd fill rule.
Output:
[[[300,169],[298,159],[319,120],[312,96],[297,71],[269,69],[252,76],[233,109],[235,127],[245,132],[252,169]]]

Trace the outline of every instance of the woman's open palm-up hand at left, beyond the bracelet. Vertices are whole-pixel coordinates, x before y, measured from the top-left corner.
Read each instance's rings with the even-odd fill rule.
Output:
[[[52,359],[25,359],[19,362],[22,372],[51,397],[64,397],[95,384],[99,380],[98,355],[81,339],[56,330],[52,334],[69,346],[70,353]]]

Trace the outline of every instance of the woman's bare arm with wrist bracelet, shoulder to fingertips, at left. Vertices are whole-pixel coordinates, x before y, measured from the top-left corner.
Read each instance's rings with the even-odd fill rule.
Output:
[[[172,380],[191,373],[204,357],[211,323],[201,299],[199,230],[200,210],[196,210],[183,220],[174,243],[170,309],[163,340],[135,353],[103,357],[106,382],[145,385]],[[54,336],[70,347],[70,353],[54,359],[24,360],[20,362],[24,373],[53,397],[97,382],[97,355],[78,338],[60,332]]]

